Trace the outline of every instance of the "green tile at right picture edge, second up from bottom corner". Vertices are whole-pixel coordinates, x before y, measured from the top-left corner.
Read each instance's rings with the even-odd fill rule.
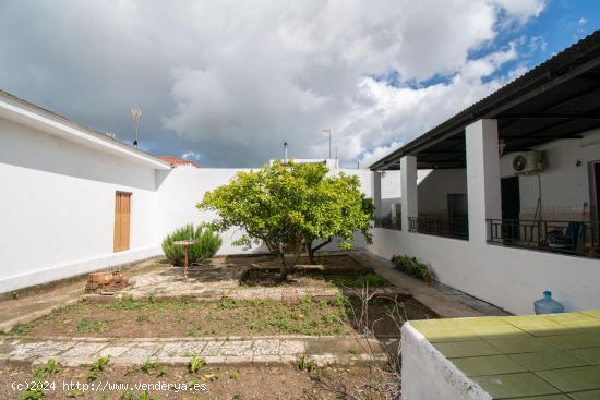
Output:
[[[600,366],[579,366],[537,373],[563,392],[600,389]]]

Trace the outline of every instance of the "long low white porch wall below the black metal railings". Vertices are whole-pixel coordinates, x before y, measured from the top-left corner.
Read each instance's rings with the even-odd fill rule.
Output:
[[[442,283],[514,314],[532,314],[551,290],[566,311],[600,307],[600,262],[524,249],[375,228],[369,251],[429,263]]]

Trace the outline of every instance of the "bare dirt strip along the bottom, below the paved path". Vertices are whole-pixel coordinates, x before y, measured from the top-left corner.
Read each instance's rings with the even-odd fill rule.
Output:
[[[362,367],[324,367],[311,373],[298,366],[248,366],[248,367],[203,367],[192,374],[184,367],[146,365],[145,367],[111,366],[108,364],[99,373],[97,380],[88,381],[87,368],[68,368],[39,379],[46,387],[44,399],[98,399],[98,400],[164,400],[164,399],[345,399],[332,391],[348,390],[361,392],[362,398],[383,399],[377,384],[379,375]],[[17,390],[33,377],[32,368],[24,366],[0,366],[0,398],[16,399],[23,395]],[[325,389],[327,383],[332,389]],[[79,384],[79,389],[77,389]],[[146,387],[142,385],[149,384]],[[88,385],[84,387],[83,385]],[[154,387],[152,387],[154,385]],[[163,387],[160,387],[163,385]],[[167,387],[170,385],[170,388]],[[188,390],[182,390],[183,385]],[[21,386],[23,387],[23,386]],[[129,390],[125,390],[129,388]],[[179,388],[179,392],[177,392]],[[163,390],[159,390],[163,389]],[[147,395],[144,397],[144,391]],[[27,399],[36,399],[28,397]]]

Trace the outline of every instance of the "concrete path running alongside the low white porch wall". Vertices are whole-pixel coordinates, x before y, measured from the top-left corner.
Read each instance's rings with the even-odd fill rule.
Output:
[[[417,301],[433,310],[443,318],[480,317],[482,315],[506,315],[507,313],[466,293],[452,288],[427,284],[394,269],[391,262],[367,252],[349,253],[357,262],[372,267],[375,272],[394,283],[398,289],[410,293]],[[442,288],[443,287],[443,288]],[[457,294],[459,293],[459,294]],[[479,303],[485,305],[479,306]]]

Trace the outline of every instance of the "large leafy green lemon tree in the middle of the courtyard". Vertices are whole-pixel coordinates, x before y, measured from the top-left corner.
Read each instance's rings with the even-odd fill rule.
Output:
[[[324,165],[293,162],[238,172],[228,184],[207,192],[196,207],[218,215],[213,229],[241,228],[235,244],[263,242],[278,258],[284,280],[303,249],[313,262],[314,252],[334,237],[341,239],[341,249],[351,247],[356,231],[371,241],[374,207],[360,191],[359,179],[327,172]]]

